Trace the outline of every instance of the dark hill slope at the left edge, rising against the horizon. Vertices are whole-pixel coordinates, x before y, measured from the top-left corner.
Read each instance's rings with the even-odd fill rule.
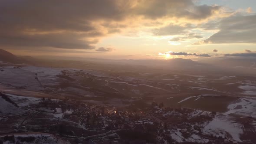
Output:
[[[22,64],[26,63],[26,60],[20,57],[17,57],[13,55],[10,52],[7,52],[6,50],[0,49],[0,61],[2,62],[9,62],[13,64]]]

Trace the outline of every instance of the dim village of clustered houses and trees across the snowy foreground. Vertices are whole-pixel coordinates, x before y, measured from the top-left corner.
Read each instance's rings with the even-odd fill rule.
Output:
[[[111,107],[76,100],[42,98],[27,105],[27,111],[1,117],[6,132],[42,132],[59,135],[68,141],[107,143],[223,143],[227,137],[203,134],[203,128],[216,112],[191,108],[165,108],[152,102],[145,108]],[[3,131],[1,131],[3,133]]]

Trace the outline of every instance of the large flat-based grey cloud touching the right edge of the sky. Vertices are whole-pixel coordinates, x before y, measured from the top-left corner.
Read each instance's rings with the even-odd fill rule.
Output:
[[[209,43],[256,43],[256,15],[235,15],[219,22],[219,32],[194,45]]]

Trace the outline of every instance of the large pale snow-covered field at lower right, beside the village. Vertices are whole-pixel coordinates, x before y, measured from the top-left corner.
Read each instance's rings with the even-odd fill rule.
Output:
[[[240,135],[243,134],[243,124],[237,118],[256,118],[256,98],[240,98],[228,106],[228,111],[218,113],[216,117],[203,128],[203,134],[217,137],[231,137],[234,141],[242,142]],[[255,129],[256,130],[256,129]]]

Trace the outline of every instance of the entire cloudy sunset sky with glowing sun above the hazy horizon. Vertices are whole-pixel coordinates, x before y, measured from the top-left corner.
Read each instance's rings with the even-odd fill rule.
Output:
[[[1,0],[0,48],[102,59],[256,57],[256,0]]]

